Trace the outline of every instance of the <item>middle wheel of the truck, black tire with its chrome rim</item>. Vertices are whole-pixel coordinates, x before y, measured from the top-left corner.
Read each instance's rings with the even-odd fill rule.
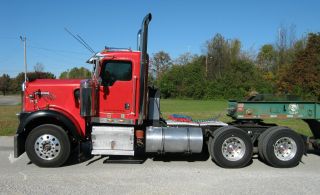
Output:
[[[252,159],[252,142],[249,135],[236,127],[228,126],[217,130],[209,143],[210,155],[223,168],[240,168]],[[228,151],[233,147],[233,151]]]

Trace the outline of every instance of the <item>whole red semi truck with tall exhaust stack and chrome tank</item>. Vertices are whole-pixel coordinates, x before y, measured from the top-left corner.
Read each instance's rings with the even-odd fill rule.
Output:
[[[81,142],[90,143],[92,155],[106,156],[196,154],[208,147],[215,163],[236,168],[248,165],[258,153],[259,138],[277,130],[282,132],[279,140],[284,141],[277,142],[271,152],[261,146],[266,148],[263,159],[273,159],[269,164],[275,167],[300,162],[303,139],[286,128],[252,121],[162,119],[159,91],[147,85],[150,21],[148,14],[138,33],[138,51],[106,48],[91,57],[91,79],[38,79],[23,84],[20,124],[14,137],[16,158],[26,152],[40,167],[57,167]]]

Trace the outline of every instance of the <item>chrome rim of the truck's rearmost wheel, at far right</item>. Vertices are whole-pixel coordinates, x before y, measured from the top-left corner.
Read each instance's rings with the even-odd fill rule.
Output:
[[[282,137],[273,146],[275,156],[281,161],[288,161],[295,157],[297,144],[290,137]]]

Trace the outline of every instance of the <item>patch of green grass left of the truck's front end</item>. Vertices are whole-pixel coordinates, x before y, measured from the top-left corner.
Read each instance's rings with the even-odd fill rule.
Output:
[[[0,136],[14,135],[19,125],[16,116],[21,110],[21,106],[0,106]]]

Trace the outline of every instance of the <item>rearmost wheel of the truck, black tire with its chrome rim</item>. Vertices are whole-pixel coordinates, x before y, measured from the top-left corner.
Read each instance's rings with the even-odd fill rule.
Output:
[[[271,131],[262,143],[266,163],[273,167],[295,167],[304,153],[304,142],[293,130],[282,127]]]

